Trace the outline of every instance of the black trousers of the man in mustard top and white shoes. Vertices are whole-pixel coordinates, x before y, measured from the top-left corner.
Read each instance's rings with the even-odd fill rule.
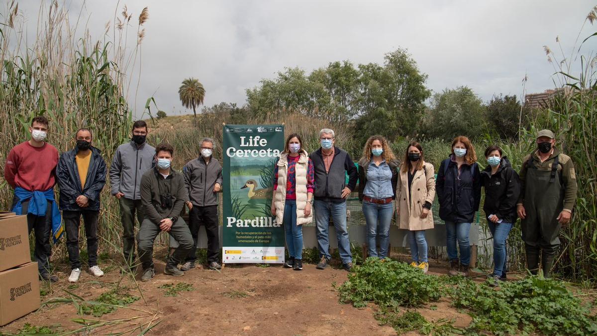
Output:
[[[62,212],[64,230],[66,230],[66,249],[69,251],[70,269],[81,268],[79,260],[79,224],[81,215],[85,225],[85,236],[87,236],[87,257],[89,267],[97,265],[97,218],[99,211],[68,211]]]

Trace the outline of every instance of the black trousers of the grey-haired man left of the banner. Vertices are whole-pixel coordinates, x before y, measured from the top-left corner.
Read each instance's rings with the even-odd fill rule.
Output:
[[[189,212],[189,230],[193,236],[193,252],[189,253],[186,261],[197,260],[197,242],[199,239],[199,227],[205,225],[207,233],[207,262],[220,262],[220,230],[218,227],[218,206],[193,206]]]

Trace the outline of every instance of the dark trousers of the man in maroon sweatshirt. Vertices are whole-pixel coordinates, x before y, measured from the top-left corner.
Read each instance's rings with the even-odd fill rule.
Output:
[[[16,196],[13,199],[13,207],[17,204],[19,198]],[[29,200],[23,201],[23,213],[27,213],[29,209]],[[17,213],[19,215],[19,213]],[[50,247],[50,236],[52,234],[52,203],[48,202],[48,207],[45,210],[45,216],[35,216],[27,214],[27,227],[29,234],[35,231],[35,261],[38,262],[39,274],[45,274],[50,271],[50,255],[52,249]]]

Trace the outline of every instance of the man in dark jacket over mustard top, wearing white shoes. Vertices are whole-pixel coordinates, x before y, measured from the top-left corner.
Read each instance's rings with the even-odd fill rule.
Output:
[[[64,219],[71,268],[69,282],[77,282],[81,275],[81,215],[87,235],[89,272],[94,276],[104,275],[97,265],[97,218],[100,212],[100,191],[106,184],[106,162],[101,157],[100,150],[91,146],[91,130],[79,129],[75,139],[76,148],[60,155],[56,168],[60,187],[60,209]]]

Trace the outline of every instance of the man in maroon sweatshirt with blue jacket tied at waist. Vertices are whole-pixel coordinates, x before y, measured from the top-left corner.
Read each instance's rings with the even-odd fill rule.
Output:
[[[13,211],[27,215],[29,233],[35,231],[35,259],[39,276],[55,282],[58,277],[50,275],[50,234],[53,219],[59,221],[54,200],[58,150],[45,142],[48,120],[35,117],[29,127],[31,139],[14,146],[4,166],[4,178],[15,191]],[[31,205],[31,206],[30,206]]]

